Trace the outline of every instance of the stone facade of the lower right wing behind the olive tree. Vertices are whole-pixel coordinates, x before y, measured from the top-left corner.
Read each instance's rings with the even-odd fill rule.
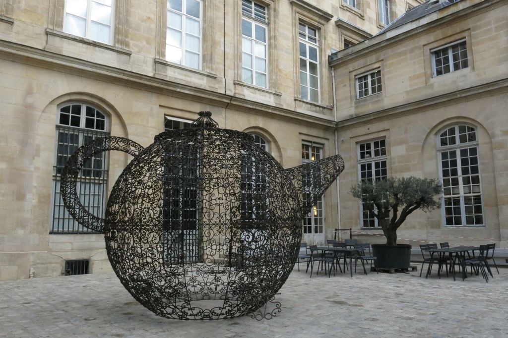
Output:
[[[400,242],[508,246],[507,13],[505,1],[428,2],[330,56],[340,220],[358,238],[383,241],[351,186],[414,175],[443,182],[442,208],[411,215]]]

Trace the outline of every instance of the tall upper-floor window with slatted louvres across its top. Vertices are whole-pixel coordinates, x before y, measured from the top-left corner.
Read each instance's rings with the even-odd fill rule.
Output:
[[[268,88],[268,14],[249,0],[242,0],[242,81]]]

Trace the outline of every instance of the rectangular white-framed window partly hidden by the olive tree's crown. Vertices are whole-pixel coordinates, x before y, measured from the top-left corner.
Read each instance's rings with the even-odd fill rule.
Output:
[[[386,140],[376,140],[358,145],[358,172],[360,182],[377,182],[388,177]],[[378,227],[377,218],[360,206],[361,223],[365,228]]]

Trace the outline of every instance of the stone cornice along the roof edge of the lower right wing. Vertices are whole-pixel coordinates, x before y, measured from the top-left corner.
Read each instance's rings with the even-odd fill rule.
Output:
[[[497,7],[505,5],[505,0],[483,1],[478,4],[466,7],[449,15],[443,16],[428,23],[419,25],[418,27],[399,32],[395,36],[391,36],[394,30],[404,29],[403,27],[411,27],[414,22],[408,22],[394,30],[387,31],[381,35],[374,36],[368,40],[360,42],[350,48],[338,51],[328,56],[328,63],[335,67],[339,64],[347,64],[358,59],[378,53],[381,50],[391,48],[407,40],[417,39],[419,36],[426,35],[429,31],[438,30],[443,26],[451,25],[457,21],[479,15],[485,11],[493,10]],[[432,15],[433,13],[429,14]]]

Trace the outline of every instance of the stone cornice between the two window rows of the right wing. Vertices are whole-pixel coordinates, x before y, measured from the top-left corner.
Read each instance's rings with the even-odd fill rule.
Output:
[[[456,104],[458,101],[467,101],[476,99],[479,96],[486,94],[497,94],[508,91],[508,79],[502,79],[494,82],[481,84],[474,87],[469,87],[457,90],[451,93],[432,96],[429,98],[421,99],[416,102],[411,102],[396,107],[391,107],[376,112],[355,116],[349,119],[338,121],[337,129],[346,129],[348,127],[356,127],[360,123],[373,123],[380,120],[389,120],[401,116],[416,114],[423,109],[429,110],[436,107],[449,106]]]

